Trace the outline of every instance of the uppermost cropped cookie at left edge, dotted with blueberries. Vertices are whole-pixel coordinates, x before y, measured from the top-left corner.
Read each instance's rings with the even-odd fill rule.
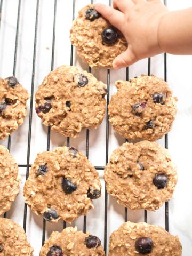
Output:
[[[11,135],[23,123],[29,97],[14,76],[0,78],[0,140]]]

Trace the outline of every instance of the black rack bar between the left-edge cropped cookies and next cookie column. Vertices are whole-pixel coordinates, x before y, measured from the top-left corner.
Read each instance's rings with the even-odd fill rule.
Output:
[[[30,99],[30,111],[29,111],[29,130],[28,130],[28,146],[27,146],[26,179],[28,179],[28,176],[29,176],[31,126],[32,126],[32,117],[33,117],[33,97],[34,97],[34,82],[35,82],[36,48],[37,48],[38,11],[39,11],[39,0],[37,0],[36,18],[35,18],[35,38],[34,38],[33,68],[32,68],[32,77],[31,77],[31,99]],[[25,231],[26,231],[26,220],[27,220],[27,204],[25,203],[24,218],[23,218],[23,229]]]

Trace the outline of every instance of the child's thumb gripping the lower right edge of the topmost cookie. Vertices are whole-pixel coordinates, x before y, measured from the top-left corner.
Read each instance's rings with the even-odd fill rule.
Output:
[[[113,68],[125,68],[132,65],[138,59],[135,54],[128,47],[127,50],[121,54],[119,54],[113,61]]]

